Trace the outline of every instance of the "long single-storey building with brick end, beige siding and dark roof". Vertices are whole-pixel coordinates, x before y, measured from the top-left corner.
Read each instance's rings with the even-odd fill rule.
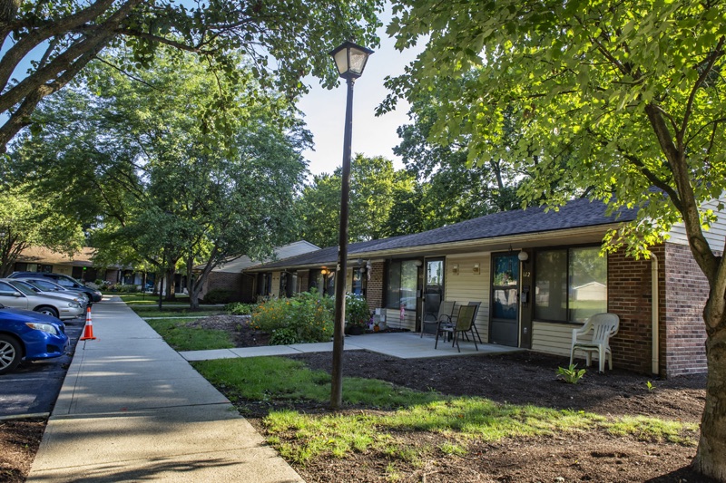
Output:
[[[386,310],[389,325],[412,331],[443,300],[481,302],[476,326],[486,343],[560,355],[569,355],[572,330],[586,317],[613,312],[621,320],[612,342],[615,366],[668,376],[705,372],[701,311],[708,285],[683,227],[652,246],[649,260],[624,251],[599,255],[605,233],[635,215],[608,216],[603,203],[578,199],[558,211],[514,210],[354,243],[347,291]],[[711,246],[724,244],[723,215],[707,232]],[[330,246],[247,266],[237,276],[263,285],[292,277],[293,292],[317,286],[332,294],[337,256],[338,247]],[[265,286],[273,295],[284,292]]]

